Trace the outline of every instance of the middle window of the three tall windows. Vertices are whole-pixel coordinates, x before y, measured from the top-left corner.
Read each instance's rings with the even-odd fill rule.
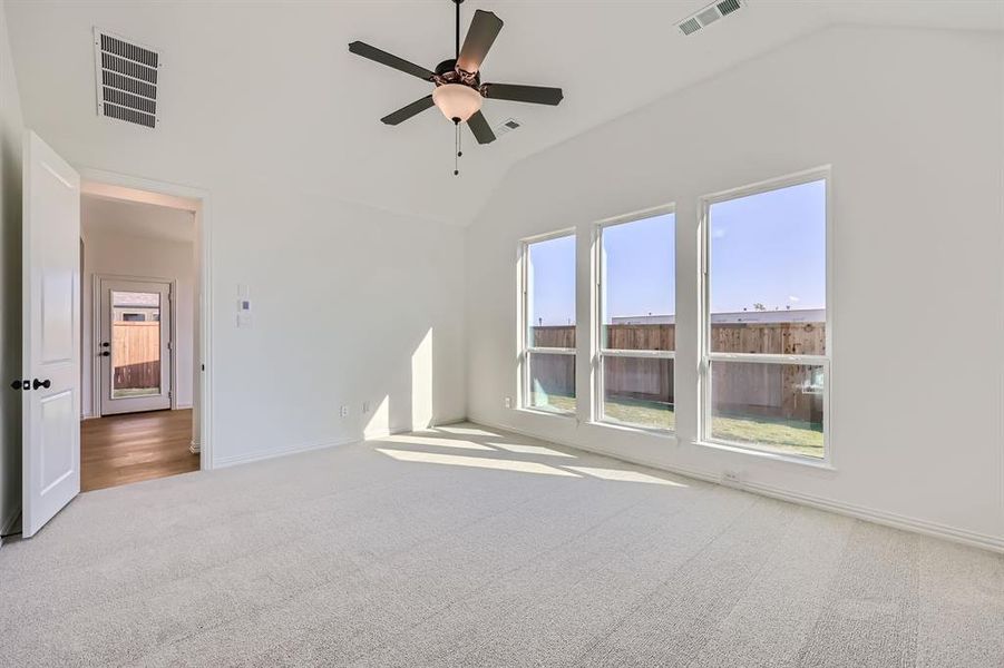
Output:
[[[674,430],[675,215],[600,227],[597,415]]]

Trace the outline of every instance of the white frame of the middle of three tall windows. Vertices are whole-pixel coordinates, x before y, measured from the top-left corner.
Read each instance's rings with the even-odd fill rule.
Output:
[[[613,218],[607,218],[605,220],[601,220],[595,225],[594,239],[594,257],[593,257],[593,266],[595,267],[595,276],[596,281],[593,285],[593,304],[595,305],[593,308],[593,324],[594,324],[594,336],[596,341],[596,350],[593,355],[593,404],[592,404],[592,413],[593,413],[593,422],[603,424],[603,425],[613,425],[625,429],[636,429],[646,432],[653,432],[660,435],[675,435],[676,430],[674,429],[661,429],[657,426],[646,426],[643,424],[635,424],[632,422],[621,422],[620,420],[607,420],[604,416],[603,412],[603,397],[605,396],[604,387],[603,387],[603,360],[604,357],[633,357],[637,360],[673,360],[673,365],[675,366],[676,362],[676,351],[675,345],[672,351],[622,351],[616,348],[606,348],[603,347],[603,304],[604,304],[604,294],[603,294],[603,283],[605,281],[603,275],[603,232],[610,227],[616,227],[618,225],[626,225],[628,223],[637,223],[639,220],[644,220],[646,218],[654,218],[656,216],[665,216],[669,214],[673,214],[673,256],[674,256],[674,266],[676,257],[679,254],[676,253],[676,205],[675,203],[663,204],[660,206],[655,206],[652,208],[642,209],[639,212],[633,212],[631,214],[624,214],[622,216],[615,216]],[[673,289],[676,289],[676,276],[674,269],[673,276]],[[675,299],[674,299],[675,302]],[[674,308],[675,311],[675,308]],[[676,315],[675,313],[673,314]],[[673,370],[673,411],[676,411],[676,373],[675,369]]]

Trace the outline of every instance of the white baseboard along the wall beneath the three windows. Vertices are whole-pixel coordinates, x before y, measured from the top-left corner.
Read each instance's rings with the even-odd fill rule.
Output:
[[[703,480],[705,482],[712,482],[714,484],[722,484],[721,478],[713,471],[694,469],[692,466],[666,465],[663,462],[644,461],[644,458],[625,456],[621,452],[612,452],[602,448],[584,446],[578,443],[572,443],[559,439],[550,439],[532,433],[528,430],[515,429],[505,424],[499,424],[491,420],[480,420],[477,416],[470,416],[469,420],[470,422],[475,422],[484,426],[508,431],[514,434],[528,436],[530,439],[549,441],[557,443],[558,445],[573,448],[575,450],[582,450],[584,452],[592,452],[594,454],[602,454],[604,456],[621,460],[623,462],[639,464],[642,466],[650,466],[652,469],[659,469],[661,471],[667,471],[670,473],[678,473],[680,475],[685,475],[688,478],[693,478],[696,480]],[[852,503],[846,503],[844,501],[835,501],[834,499],[817,497],[815,494],[792,492],[768,484],[745,482],[742,484],[729,484],[728,487],[745,492],[751,492],[753,494],[761,494],[763,497],[788,501],[790,503],[798,503],[800,505],[808,505],[811,508],[817,508],[819,510],[835,512],[837,514],[851,517],[858,520],[865,520],[875,524],[883,524],[885,527],[901,529],[904,531],[912,531],[914,533],[923,533],[924,536],[932,536],[934,538],[940,538],[944,540],[949,540],[952,542],[982,548],[984,550],[991,550],[992,552],[1004,553],[1004,538],[1002,537],[978,533],[976,531],[969,531],[967,529],[958,529],[955,527],[949,527],[947,524],[940,524],[937,522],[930,522],[928,520],[920,520],[917,518],[900,515],[897,513],[867,508],[864,505],[855,505]]]

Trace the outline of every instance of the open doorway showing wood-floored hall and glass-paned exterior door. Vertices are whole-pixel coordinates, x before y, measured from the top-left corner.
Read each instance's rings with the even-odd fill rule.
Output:
[[[84,492],[203,468],[198,207],[81,185]]]

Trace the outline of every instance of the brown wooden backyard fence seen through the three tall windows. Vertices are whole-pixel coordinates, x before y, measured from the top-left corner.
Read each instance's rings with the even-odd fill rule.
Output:
[[[607,348],[671,351],[676,345],[674,325],[607,325],[604,331]],[[534,327],[533,341],[539,347],[575,347],[575,327]],[[719,353],[825,355],[826,330],[823,323],[712,324],[711,348]],[[674,403],[670,361],[606,357],[604,364],[607,397]],[[537,355],[532,366],[534,383],[544,392],[574,393],[574,357]],[[723,412],[817,422],[822,400],[807,389],[810,379],[808,366],[718,363],[712,367],[711,385],[715,407]]]

